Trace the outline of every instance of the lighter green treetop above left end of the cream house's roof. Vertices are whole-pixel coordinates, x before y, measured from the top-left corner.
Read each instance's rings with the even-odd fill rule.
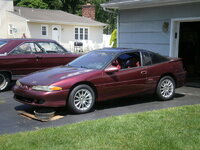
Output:
[[[48,5],[44,3],[42,0],[21,0],[19,3],[17,3],[17,6],[29,7],[29,8],[41,8],[41,9],[48,8]]]

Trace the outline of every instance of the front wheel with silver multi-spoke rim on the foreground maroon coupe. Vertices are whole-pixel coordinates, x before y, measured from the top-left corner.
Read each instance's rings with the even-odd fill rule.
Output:
[[[93,89],[86,84],[82,84],[76,86],[70,92],[68,99],[68,108],[72,113],[87,113],[93,108],[94,102],[95,94]]]

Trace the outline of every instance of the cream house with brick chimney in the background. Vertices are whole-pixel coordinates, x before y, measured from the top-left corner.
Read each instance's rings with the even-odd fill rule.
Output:
[[[60,10],[13,7],[13,0],[1,0],[0,8],[0,38],[53,39],[71,51],[74,42],[81,42],[87,51],[103,47],[106,24],[94,20],[93,5],[83,6],[83,17]]]

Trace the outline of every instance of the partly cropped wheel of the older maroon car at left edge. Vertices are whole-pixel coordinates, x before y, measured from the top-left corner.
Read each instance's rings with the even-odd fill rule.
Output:
[[[10,87],[10,81],[11,79],[8,74],[0,72],[0,92]]]

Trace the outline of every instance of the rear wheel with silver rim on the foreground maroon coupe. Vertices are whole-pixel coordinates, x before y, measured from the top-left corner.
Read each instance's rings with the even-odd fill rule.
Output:
[[[175,87],[174,79],[170,76],[164,76],[158,82],[156,95],[162,101],[170,100],[174,97]]]

